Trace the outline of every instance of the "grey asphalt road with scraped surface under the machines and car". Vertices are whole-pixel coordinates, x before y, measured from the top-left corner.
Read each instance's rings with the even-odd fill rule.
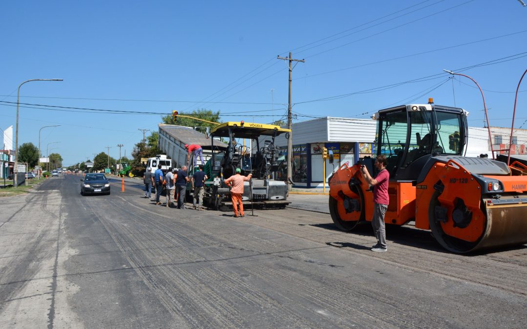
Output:
[[[455,255],[430,233],[335,230],[327,196],[177,210],[60,176],[2,198],[0,327],[525,327],[527,246]]]

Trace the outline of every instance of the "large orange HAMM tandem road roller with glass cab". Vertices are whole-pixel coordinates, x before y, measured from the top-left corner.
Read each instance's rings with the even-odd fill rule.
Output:
[[[468,114],[430,103],[374,115],[376,153],[390,174],[385,222],[415,221],[455,253],[527,243],[527,166],[464,157]],[[329,211],[341,230],[372,220],[373,192],[360,166],[375,176],[374,161],[344,164],[329,179]]]

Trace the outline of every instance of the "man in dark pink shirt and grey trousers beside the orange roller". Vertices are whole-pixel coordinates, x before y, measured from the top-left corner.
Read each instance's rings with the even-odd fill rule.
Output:
[[[360,171],[364,175],[364,179],[369,185],[373,186],[373,219],[372,226],[375,237],[377,238],[377,244],[372,247],[372,251],[384,252],[387,250],[386,246],[386,228],[384,224],[384,215],[388,209],[389,196],[388,196],[388,181],[390,174],[386,170],[387,165],[386,157],[379,155],[375,159],[375,167],[379,170],[379,173],[375,178],[369,174],[366,166],[362,166]]]

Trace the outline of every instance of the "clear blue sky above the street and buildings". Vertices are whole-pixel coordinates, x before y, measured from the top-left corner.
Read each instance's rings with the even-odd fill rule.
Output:
[[[170,114],[207,108],[223,121],[269,123],[287,112],[287,62],[294,122],[318,116],[366,117],[408,103],[463,107],[469,125],[510,126],[514,93],[527,68],[527,7],[516,0],[414,1],[24,1],[2,2],[0,128],[19,144],[58,147],[70,165],[94,153],[130,155],[138,129],[158,114],[88,113],[50,106]],[[485,65],[479,65],[487,63]],[[479,66],[477,66],[479,65]],[[405,83],[414,81],[412,83]],[[516,109],[527,128],[527,79]],[[403,84],[401,84],[403,83]],[[334,97],[338,96],[338,97]],[[317,101],[324,99],[322,101]],[[12,103],[4,103],[12,102]],[[15,104],[13,104],[15,103]],[[80,111],[80,112],[69,112]],[[524,124],[525,123],[525,124]]]

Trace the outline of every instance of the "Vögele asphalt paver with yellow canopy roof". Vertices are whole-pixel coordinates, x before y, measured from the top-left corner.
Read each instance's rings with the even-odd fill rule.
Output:
[[[280,126],[243,121],[213,127],[210,132],[212,156],[204,166],[209,177],[205,184],[204,204],[216,210],[232,209],[230,190],[224,181],[240,168],[241,175],[252,174],[243,189],[245,207],[284,208],[288,205],[286,182],[272,180],[272,176],[280,167],[275,138],[289,132]],[[225,151],[214,147],[214,141],[218,139],[228,143]],[[190,170],[189,177],[193,170]]]

